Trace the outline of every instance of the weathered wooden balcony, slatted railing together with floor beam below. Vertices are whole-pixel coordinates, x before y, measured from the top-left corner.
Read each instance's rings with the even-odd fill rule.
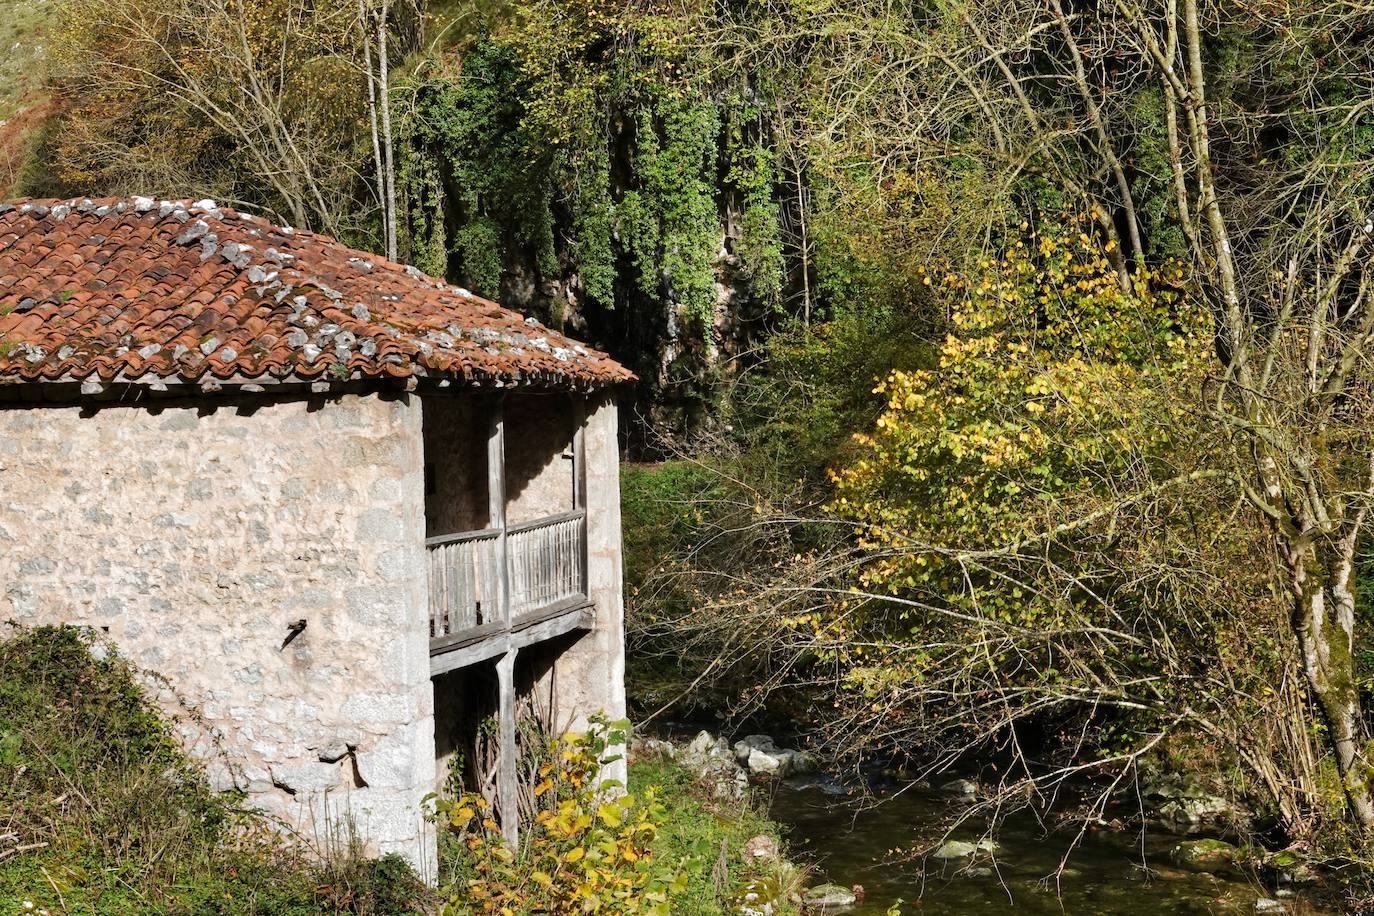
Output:
[[[585,509],[426,547],[434,674],[589,626]]]

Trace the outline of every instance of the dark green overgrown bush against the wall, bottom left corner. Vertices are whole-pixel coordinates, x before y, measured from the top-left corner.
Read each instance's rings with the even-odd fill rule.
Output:
[[[210,790],[146,676],[71,628],[0,641],[0,912],[412,913],[397,857],[356,845],[313,864],[239,798]]]

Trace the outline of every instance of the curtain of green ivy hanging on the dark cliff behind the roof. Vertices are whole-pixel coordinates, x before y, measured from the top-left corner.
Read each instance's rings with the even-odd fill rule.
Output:
[[[741,275],[780,304],[776,163],[760,111],[680,76],[680,48],[660,41],[631,62],[633,36],[599,5],[540,12],[488,29],[407,87],[412,260],[486,295],[513,264],[536,283],[577,280],[605,308],[635,291],[709,346],[723,207],[735,206]]]

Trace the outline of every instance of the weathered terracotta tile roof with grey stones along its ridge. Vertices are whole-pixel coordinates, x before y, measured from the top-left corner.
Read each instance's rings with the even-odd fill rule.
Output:
[[[415,268],[210,201],[0,203],[0,385],[408,376],[633,378]]]

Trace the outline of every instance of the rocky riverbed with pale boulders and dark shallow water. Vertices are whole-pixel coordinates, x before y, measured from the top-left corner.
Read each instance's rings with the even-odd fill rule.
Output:
[[[819,758],[750,735],[708,732],[690,740],[640,742],[698,772],[723,798],[753,788],[789,828],[791,854],[813,867],[808,912],[905,913],[1293,913],[1312,902],[1314,875],[1292,856],[1256,856],[1220,839],[1237,812],[1183,777],[1147,773],[1142,829],[1109,817],[1094,824],[1063,864],[1080,823],[1032,812],[1007,817],[995,836],[973,821],[945,836],[949,816],[981,792],[969,779],[934,787],[881,776],[864,786],[823,772]],[[767,850],[765,854],[776,854]],[[1061,868],[1062,865],[1062,868]],[[767,894],[741,913],[767,916]]]

